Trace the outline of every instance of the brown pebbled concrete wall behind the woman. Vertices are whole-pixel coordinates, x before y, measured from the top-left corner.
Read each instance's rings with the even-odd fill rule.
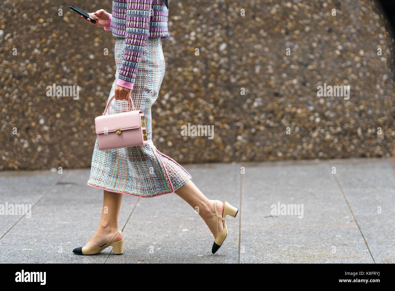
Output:
[[[115,39],[68,5],[0,4],[0,170],[90,166]],[[381,15],[373,0],[172,1],[156,147],[180,163],[389,156],[394,41]],[[79,99],[48,97],[53,83]],[[350,98],[317,96],[324,83]],[[214,138],[182,136],[188,123]]]

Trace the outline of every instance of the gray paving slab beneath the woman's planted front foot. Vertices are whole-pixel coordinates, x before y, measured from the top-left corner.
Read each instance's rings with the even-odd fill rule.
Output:
[[[64,171],[64,178],[0,240],[0,263],[104,263],[111,251],[97,256],[72,253],[95,233],[102,213],[103,191],[87,186],[89,170]],[[126,223],[138,198],[124,197],[119,225]]]

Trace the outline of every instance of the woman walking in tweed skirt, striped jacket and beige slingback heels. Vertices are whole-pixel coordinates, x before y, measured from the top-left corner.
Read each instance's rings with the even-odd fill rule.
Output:
[[[109,94],[109,99],[115,95],[115,100],[109,113],[128,111],[132,98],[135,108],[144,112],[148,143],[100,150],[96,140],[88,185],[103,189],[103,212],[94,236],[86,246],[73,249],[74,253],[95,255],[108,246],[113,247],[114,254],[123,253],[124,240],[118,228],[123,194],[147,198],[175,192],[193,208],[198,206],[214,236],[213,253],[227,235],[225,216],[235,217],[238,212],[227,202],[205,197],[190,174],[152,143],[151,106],[165,74],[162,40],[169,38],[168,7],[167,0],[113,0],[112,14],[103,9],[89,13],[96,23],[81,16],[91,25],[111,30],[117,38],[117,71]]]

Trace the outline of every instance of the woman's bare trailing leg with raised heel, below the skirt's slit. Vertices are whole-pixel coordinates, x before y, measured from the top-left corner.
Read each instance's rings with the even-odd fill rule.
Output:
[[[189,180],[184,185],[182,185],[179,189],[174,191],[179,197],[184,199],[192,208],[199,212],[199,215],[210,231],[213,233],[214,238],[216,237],[216,215],[214,210],[214,200],[210,200],[201,193],[201,191],[196,187],[196,185]],[[224,210],[224,204],[221,201],[215,200],[218,209],[218,215],[222,216],[222,212]],[[197,208],[198,207],[198,208]],[[222,232],[224,229],[224,225],[220,220],[219,223],[219,231]]]

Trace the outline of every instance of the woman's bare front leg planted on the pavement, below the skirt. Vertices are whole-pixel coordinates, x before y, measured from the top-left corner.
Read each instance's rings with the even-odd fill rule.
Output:
[[[87,246],[98,246],[101,247],[114,235],[118,229],[118,214],[122,202],[121,193],[105,191],[103,193],[103,209],[102,218],[100,219],[99,227],[94,236],[87,243]],[[122,240],[122,233],[119,232],[114,242]]]

